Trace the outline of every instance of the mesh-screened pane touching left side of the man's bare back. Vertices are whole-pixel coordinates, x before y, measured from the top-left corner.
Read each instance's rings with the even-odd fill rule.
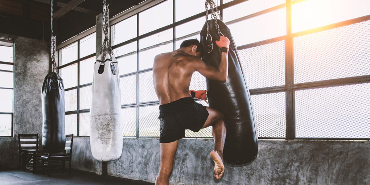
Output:
[[[139,102],[158,101],[153,85],[153,71],[139,74]]]

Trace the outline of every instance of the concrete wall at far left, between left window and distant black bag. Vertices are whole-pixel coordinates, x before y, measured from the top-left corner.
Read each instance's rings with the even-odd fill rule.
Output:
[[[41,144],[41,85],[50,67],[49,53],[50,43],[24,37],[14,39],[14,137],[0,138],[2,168],[19,165],[18,133],[39,133]]]

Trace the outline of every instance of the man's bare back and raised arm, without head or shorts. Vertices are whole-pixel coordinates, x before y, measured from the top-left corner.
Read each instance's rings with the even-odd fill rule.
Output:
[[[200,58],[201,53],[192,48],[162,53],[154,58],[153,83],[159,104],[166,104],[180,98],[190,97],[189,85],[191,77],[198,71],[206,78],[225,82],[227,78],[227,58],[221,68],[216,69],[206,65]],[[190,54],[189,54],[190,53]]]

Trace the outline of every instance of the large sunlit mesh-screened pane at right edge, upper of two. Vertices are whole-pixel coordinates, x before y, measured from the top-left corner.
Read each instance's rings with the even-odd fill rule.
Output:
[[[294,38],[294,83],[370,75],[370,21]]]

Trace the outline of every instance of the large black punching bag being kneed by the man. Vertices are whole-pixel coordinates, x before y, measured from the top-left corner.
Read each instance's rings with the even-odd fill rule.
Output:
[[[238,49],[230,30],[221,20],[218,20],[218,25],[223,36],[230,40],[229,72],[225,83],[206,79],[209,107],[215,108],[225,115],[227,133],[223,160],[229,164],[247,164],[257,157],[258,152],[253,106],[240,64]],[[209,33],[213,43],[211,53],[207,52],[211,42],[210,36],[206,40],[207,24],[205,23],[201,31],[201,43],[206,50],[203,61],[218,68],[221,51],[215,41],[219,40],[220,37],[214,19],[209,20]]]

